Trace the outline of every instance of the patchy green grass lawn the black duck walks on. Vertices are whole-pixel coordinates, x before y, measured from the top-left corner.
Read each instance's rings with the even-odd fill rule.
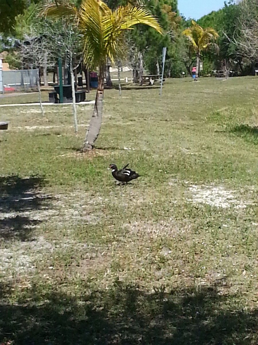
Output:
[[[90,154],[93,105],[0,107],[0,342],[257,344],[257,87],[106,90]]]

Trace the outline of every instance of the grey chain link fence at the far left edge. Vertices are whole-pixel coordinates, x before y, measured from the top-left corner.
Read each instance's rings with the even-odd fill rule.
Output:
[[[2,71],[3,91],[38,91],[38,70]]]

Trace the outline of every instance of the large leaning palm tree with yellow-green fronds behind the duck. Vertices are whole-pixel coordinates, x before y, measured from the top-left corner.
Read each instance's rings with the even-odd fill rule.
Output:
[[[83,151],[91,150],[101,127],[107,59],[114,63],[115,58],[123,53],[123,33],[133,29],[133,25],[146,24],[159,33],[162,33],[162,28],[148,10],[132,4],[111,10],[103,1],[82,0],[77,10],[67,0],[55,0],[55,3],[47,5],[45,13],[58,17],[75,16],[84,35],[84,63],[88,69],[98,68],[95,105],[83,143]]]

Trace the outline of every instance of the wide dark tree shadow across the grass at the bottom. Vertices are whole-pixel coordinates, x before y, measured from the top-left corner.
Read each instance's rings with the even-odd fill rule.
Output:
[[[15,344],[257,344],[257,310],[236,310],[234,296],[219,294],[218,285],[143,292],[117,282],[106,291],[74,297],[29,292],[36,303],[0,305],[0,341]]]

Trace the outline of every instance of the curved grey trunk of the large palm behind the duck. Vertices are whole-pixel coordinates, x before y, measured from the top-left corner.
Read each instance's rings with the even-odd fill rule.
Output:
[[[102,66],[99,66],[98,88],[95,98],[95,105],[89,128],[86,131],[86,136],[83,143],[83,152],[93,149],[94,142],[96,141],[100,132],[104,98],[105,67],[106,63],[104,63]]]

